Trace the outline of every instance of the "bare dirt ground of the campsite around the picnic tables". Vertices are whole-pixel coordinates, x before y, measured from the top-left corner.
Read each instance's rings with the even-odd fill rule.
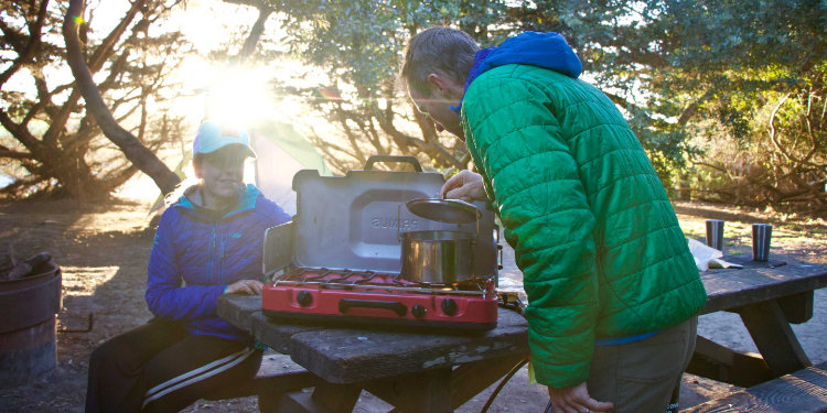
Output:
[[[827,263],[827,222],[806,216],[749,210],[698,203],[676,203],[676,211],[688,237],[702,239],[705,219],[727,221],[728,253],[750,253],[752,222],[770,222],[773,251],[810,262]],[[57,317],[57,368],[52,374],[13,389],[0,389],[0,412],[82,412],[86,391],[88,356],[109,337],[150,318],[143,286],[152,233],[147,230],[148,206],[118,202],[83,205],[67,202],[0,204],[0,248],[14,247],[21,257],[49,251],[63,270],[63,308]],[[512,258],[513,260],[513,258]],[[511,265],[511,267],[509,267]],[[506,270],[513,267],[506,262]],[[827,361],[827,293],[816,292],[815,316],[794,326],[814,362]],[[89,318],[92,315],[92,318]],[[701,317],[701,334],[744,351],[755,351],[738,316],[713,314]],[[93,325],[89,326],[89,320]],[[89,332],[84,332],[92,327]],[[284,356],[270,354],[281,359]],[[479,412],[493,391],[479,394],[458,411]],[[717,398],[738,388],[687,376],[681,407]],[[527,383],[523,368],[505,385],[490,412],[541,412],[547,396]],[[363,393],[356,411],[386,412],[390,406]],[[255,412],[255,398],[198,401],[186,412]]]

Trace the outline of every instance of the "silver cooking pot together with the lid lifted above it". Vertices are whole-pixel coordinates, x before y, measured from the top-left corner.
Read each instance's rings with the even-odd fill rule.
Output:
[[[459,199],[412,199],[405,205],[417,216],[442,222],[476,221],[479,227],[482,215],[476,207]],[[453,284],[473,278],[477,233],[479,228],[476,233],[452,230],[401,232],[401,276],[429,284]]]

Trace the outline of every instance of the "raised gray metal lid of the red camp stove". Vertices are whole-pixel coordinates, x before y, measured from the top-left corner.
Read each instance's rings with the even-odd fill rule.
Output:
[[[442,174],[431,172],[364,170],[320,176],[315,170],[299,171],[293,176],[293,265],[399,272],[399,232],[474,232],[474,222],[433,221],[405,207],[411,199],[439,197],[443,183]],[[493,215],[491,220],[493,225]]]

